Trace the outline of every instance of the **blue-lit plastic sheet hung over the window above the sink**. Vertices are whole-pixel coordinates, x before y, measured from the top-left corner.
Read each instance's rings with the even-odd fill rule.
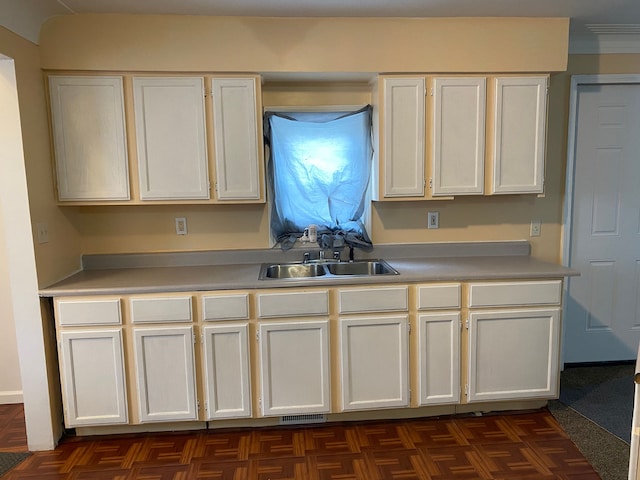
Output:
[[[371,107],[353,113],[270,112],[265,132],[271,228],[282,246],[291,246],[310,224],[319,235],[370,245],[362,215],[373,155]]]

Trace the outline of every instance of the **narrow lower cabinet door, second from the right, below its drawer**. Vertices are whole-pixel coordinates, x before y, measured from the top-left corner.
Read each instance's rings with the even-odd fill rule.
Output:
[[[460,314],[418,315],[420,405],[460,401]]]

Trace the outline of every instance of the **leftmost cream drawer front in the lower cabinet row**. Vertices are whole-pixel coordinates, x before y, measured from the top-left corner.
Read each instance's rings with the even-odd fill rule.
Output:
[[[58,300],[57,318],[60,325],[119,325],[120,299]]]

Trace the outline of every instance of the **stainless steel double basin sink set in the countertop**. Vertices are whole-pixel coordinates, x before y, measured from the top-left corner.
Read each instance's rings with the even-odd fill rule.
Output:
[[[303,279],[351,276],[398,275],[398,272],[384,260],[356,260],[353,262],[309,261],[290,263],[263,263],[260,280]]]

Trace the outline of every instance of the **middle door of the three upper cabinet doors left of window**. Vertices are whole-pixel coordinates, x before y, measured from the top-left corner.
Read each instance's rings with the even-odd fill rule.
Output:
[[[208,199],[204,79],[133,79],[140,198]]]

